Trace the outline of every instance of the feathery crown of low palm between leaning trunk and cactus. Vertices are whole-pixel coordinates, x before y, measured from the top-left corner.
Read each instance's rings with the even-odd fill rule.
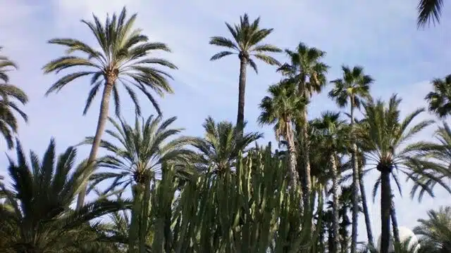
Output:
[[[163,120],[161,117],[151,115],[145,121],[138,117],[135,124],[130,126],[123,119],[116,122],[109,119],[114,131],[106,131],[117,141],[101,141],[101,147],[109,152],[109,155],[99,159],[99,167],[109,169],[106,172],[98,172],[92,179],[95,186],[106,179],[114,179],[111,186],[106,190],[122,185],[126,188],[130,183],[142,183],[144,178],[151,179],[161,176],[161,165],[168,163],[185,169],[187,159],[193,153],[185,147],[193,143],[190,137],[173,138],[180,134],[183,129],[168,128],[175,122],[177,117]],[[169,138],[173,138],[169,140]],[[93,136],[87,137],[83,143],[92,144]],[[183,171],[180,171],[183,173]]]

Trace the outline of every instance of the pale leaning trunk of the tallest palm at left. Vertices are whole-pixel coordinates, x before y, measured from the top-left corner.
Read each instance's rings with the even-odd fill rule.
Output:
[[[87,167],[89,168],[90,171],[94,169],[93,168],[94,161],[96,160],[97,151],[99,150],[100,147],[101,135],[104,134],[105,131],[106,120],[108,119],[111,91],[113,91],[114,82],[116,82],[116,78],[114,77],[110,77],[106,80],[104,93],[101,97],[100,112],[99,119],[97,119],[96,134],[94,136],[94,141],[92,142],[91,151],[89,152],[89,158],[87,160]],[[82,190],[80,190],[80,193],[78,194],[77,209],[80,209],[85,202],[86,190],[87,184],[85,184],[85,186],[82,186]]]

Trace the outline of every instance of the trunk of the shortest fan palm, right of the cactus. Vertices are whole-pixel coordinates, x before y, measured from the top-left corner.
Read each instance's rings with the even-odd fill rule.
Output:
[[[333,212],[333,221],[332,221],[332,238],[333,238],[333,249],[332,253],[340,252],[340,238],[338,237],[338,228],[340,228],[340,217],[338,214],[338,208],[340,203],[338,202],[338,169],[337,169],[337,160],[335,159],[335,154],[330,155],[330,162],[332,163],[332,212]]]

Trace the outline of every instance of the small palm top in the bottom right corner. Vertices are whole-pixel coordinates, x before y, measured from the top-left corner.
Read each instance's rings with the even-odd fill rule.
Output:
[[[414,228],[432,248],[431,253],[451,252],[451,207],[440,207],[438,211],[429,210],[428,219],[419,219]],[[422,247],[423,245],[421,245]]]

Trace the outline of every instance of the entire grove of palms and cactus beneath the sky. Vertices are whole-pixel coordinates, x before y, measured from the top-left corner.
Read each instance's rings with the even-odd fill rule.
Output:
[[[431,8],[425,2],[419,4],[419,24],[438,18],[443,4],[432,1]],[[207,117],[204,137],[183,136],[183,129],[171,126],[176,117],[161,115],[155,96],[173,93],[167,71],[177,67],[152,57],[170,48],[149,41],[134,26],[136,18],[123,8],[104,21],[95,15],[82,20],[97,41],[93,47],[78,39],[49,41],[66,53],[43,67],[44,73],[58,74],[46,95],[75,79],[89,82],[85,114],[101,93],[94,136],[61,154],[53,139],[43,157],[26,155],[14,140],[17,118],[27,120],[20,104],[28,99],[9,83],[16,63],[0,56],[0,131],[5,148],[16,148],[17,155],[8,157],[9,178],[0,181],[1,252],[373,252],[364,183],[371,169],[380,172],[373,187],[373,195],[381,188],[380,252],[388,253],[390,231],[396,252],[451,251],[451,207],[419,220],[418,249],[400,241],[393,200],[398,174],[414,183],[412,196],[419,199],[433,195],[435,186],[451,193],[446,123],[438,126],[436,141],[413,141],[434,123],[416,120],[424,108],[401,117],[401,98],[373,99],[375,81],[358,65],[343,65],[342,76],[328,81],[326,52],[302,42],[285,49],[285,63],[279,62],[283,50],[265,43],[273,29],[245,14],[235,25],[226,23],[228,36],[209,41],[219,50],[211,60],[228,56],[240,63],[236,124]],[[261,100],[258,118],[273,126],[275,151],[271,143],[253,145],[262,134],[245,131],[247,70],[258,72],[257,64],[280,73],[280,82]],[[451,76],[434,79],[425,98],[442,119],[451,112],[450,85]],[[118,86],[135,105],[135,122],[121,117]],[[309,119],[307,105],[326,86],[338,110]],[[156,115],[142,117],[138,92]],[[111,104],[116,117],[110,117]],[[88,157],[77,157],[78,145],[91,146]],[[107,155],[99,157],[99,149]],[[126,191],[132,197],[123,197]],[[87,202],[88,193],[97,197]],[[367,245],[357,242],[360,215]]]

